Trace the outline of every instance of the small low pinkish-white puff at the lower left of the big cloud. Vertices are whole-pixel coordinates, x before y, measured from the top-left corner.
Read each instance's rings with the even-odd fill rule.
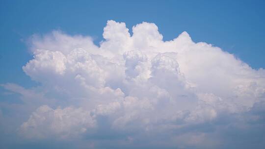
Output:
[[[53,110],[42,105],[21,125],[20,131],[31,139],[54,135],[63,139],[84,133],[95,126],[96,121],[90,116],[90,112],[82,108],[66,107]]]

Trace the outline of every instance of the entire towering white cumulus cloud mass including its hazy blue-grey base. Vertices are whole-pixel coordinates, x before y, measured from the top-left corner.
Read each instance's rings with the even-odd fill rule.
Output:
[[[243,146],[226,134],[265,125],[264,69],[194,43],[187,32],[163,41],[152,23],[133,26],[130,35],[125,23],[110,20],[103,37],[98,47],[61,31],[32,36],[34,56],[23,70],[40,86],[2,85],[36,109],[19,135],[81,137],[80,148],[212,149]]]

